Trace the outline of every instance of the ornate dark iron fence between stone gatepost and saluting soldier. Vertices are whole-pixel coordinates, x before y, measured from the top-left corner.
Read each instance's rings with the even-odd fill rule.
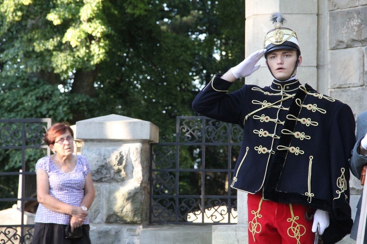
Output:
[[[177,117],[176,142],[151,145],[149,222],[236,223],[229,182],[241,140],[238,125]]]

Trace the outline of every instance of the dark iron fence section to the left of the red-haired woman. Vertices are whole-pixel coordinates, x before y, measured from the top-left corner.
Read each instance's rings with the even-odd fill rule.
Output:
[[[27,244],[32,240],[34,224],[27,220],[32,219],[31,212],[38,204],[34,165],[39,157],[50,155],[43,141],[50,126],[49,118],[0,119],[0,243]]]

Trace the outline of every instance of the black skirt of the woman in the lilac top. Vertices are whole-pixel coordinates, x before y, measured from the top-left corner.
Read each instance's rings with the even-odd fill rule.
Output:
[[[65,237],[66,224],[36,223],[31,244],[91,244],[89,224],[83,224],[83,237],[69,239]]]

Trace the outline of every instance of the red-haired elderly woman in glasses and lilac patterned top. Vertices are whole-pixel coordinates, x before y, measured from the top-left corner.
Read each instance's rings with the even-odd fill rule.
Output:
[[[90,244],[88,209],[94,186],[88,160],[73,155],[71,128],[51,126],[45,142],[54,153],[38,160],[37,200],[33,244]]]

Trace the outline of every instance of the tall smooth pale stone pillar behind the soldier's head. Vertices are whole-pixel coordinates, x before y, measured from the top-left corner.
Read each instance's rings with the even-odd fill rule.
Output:
[[[245,0],[245,57],[263,48],[266,33],[274,29],[271,14],[283,13],[287,22],[283,27],[296,31],[301,56],[297,78],[302,84],[308,83],[317,89],[317,47],[318,47],[318,1],[317,0]],[[265,59],[261,59],[260,69],[246,77],[246,84],[260,87],[269,86],[273,80]],[[325,81],[326,82],[326,81]]]

